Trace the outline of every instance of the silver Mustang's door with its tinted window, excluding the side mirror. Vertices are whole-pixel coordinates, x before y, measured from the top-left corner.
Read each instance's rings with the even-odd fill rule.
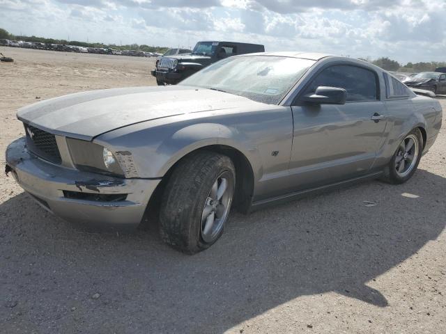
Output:
[[[299,97],[318,86],[346,89],[346,104],[308,105]],[[329,65],[298,95],[289,165],[295,190],[369,173],[386,127],[378,74],[368,67]]]

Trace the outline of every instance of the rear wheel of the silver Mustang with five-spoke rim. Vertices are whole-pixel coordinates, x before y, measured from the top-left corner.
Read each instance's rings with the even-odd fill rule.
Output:
[[[420,129],[414,129],[401,141],[397,151],[385,168],[384,180],[392,184],[401,184],[412,177],[420,164],[423,151],[423,136]]]

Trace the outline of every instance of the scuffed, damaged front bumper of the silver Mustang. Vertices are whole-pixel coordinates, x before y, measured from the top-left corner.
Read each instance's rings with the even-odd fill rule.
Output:
[[[137,226],[159,179],[121,179],[51,164],[26,150],[25,138],[6,149],[6,173],[49,212],[67,221]]]

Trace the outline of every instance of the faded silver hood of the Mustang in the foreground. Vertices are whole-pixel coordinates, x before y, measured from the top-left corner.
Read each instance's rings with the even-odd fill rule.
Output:
[[[17,111],[17,118],[53,134],[91,141],[138,122],[259,104],[246,97],[186,86],[114,88],[31,104]]]

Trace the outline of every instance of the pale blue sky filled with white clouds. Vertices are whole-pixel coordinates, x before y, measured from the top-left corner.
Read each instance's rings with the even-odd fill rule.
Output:
[[[0,27],[119,45],[263,44],[400,63],[446,61],[446,0],[0,0]]]

